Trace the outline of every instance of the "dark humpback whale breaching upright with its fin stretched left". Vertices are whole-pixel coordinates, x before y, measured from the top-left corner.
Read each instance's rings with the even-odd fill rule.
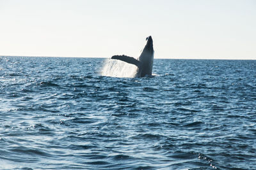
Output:
[[[152,76],[152,68],[154,62],[153,40],[151,36],[147,37],[146,40],[147,43],[138,59],[128,57],[127,55],[113,55],[111,59],[122,60],[137,66],[138,69],[136,77]]]

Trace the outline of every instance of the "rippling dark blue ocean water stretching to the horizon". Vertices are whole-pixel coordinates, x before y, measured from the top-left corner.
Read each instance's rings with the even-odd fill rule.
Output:
[[[256,169],[256,60],[105,60],[0,57],[0,169]]]

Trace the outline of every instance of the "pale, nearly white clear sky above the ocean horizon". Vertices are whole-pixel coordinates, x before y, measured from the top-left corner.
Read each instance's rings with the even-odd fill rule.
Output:
[[[256,59],[255,0],[0,0],[0,55]]]

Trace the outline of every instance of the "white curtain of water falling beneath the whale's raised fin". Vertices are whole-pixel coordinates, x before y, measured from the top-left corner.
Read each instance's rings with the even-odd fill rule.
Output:
[[[137,67],[121,60],[106,59],[101,71],[102,76],[133,78]]]

